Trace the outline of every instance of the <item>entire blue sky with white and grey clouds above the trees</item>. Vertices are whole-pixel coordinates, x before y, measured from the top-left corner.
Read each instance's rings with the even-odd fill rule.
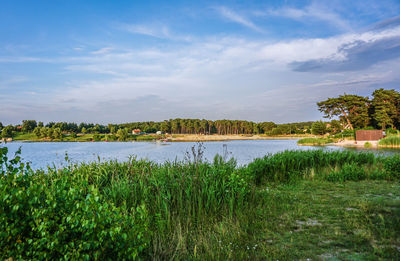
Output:
[[[322,119],[400,91],[400,1],[2,0],[0,122]]]

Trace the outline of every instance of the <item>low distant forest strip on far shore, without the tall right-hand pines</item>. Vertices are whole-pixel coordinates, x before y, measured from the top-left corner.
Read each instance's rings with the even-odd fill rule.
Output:
[[[39,138],[56,139],[63,133],[76,135],[86,134],[116,134],[128,135],[134,129],[140,129],[145,133],[162,131],[171,134],[304,134],[310,133],[313,122],[299,122],[276,124],[274,122],[260,122],[242,120],[205,120],[205,119],[170,119],[161,122],[131,122],[123,124],[93,124],[71,122],[37,122],[35,120],[23,120],[21,124],[3,126],[0,123],[2,137],[12,137],[16,133],[34,133]]]

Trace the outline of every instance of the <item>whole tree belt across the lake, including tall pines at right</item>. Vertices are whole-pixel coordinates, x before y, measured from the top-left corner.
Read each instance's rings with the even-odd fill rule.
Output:
[[[40,138],[58,138],[64,133],[73,136],[78,133],[114,134],[127,136],[133,129],[145,133],[163,131],[171,134],[219,134],[219,135],[288,135],[338,133],[344,129],[380,128],[400,129],[400,93],[396,90],[377,89],[372,98],[344,94],[317,103],[318,109],[330,122],[308,121],[276,124],[274,122],[253,122],[244,120],[170,119],[160,122],[131,122],[123,124],[94,124],[74,122],[36,122],[24,120],[15,126],[3,126],[2,137],[16,133],[34,133]]]

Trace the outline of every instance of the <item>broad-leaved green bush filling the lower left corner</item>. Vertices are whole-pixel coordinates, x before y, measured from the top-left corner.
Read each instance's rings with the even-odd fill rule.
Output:
[[[116,207],[67,169],[32,172],[0,149],[1,259],[135,259],[148,246],[143,206]]]

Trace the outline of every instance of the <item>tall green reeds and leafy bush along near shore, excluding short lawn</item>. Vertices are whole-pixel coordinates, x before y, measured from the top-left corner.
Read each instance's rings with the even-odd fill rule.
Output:
[[[285,151],[242,167],[194,155],[38,171],[6,155],[1,148],[1,259],[174,259],[206,251],[193,235],[243,220],[265,184],[400,178],[400,156],[350,151]]]

